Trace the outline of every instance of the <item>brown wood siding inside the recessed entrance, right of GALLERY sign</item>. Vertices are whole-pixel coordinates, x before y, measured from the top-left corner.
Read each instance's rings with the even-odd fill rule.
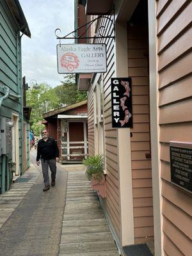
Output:
[[[131,166],[134,242],[138,244],[154,239],[151,161],[146,158],[146,154],[150,154],[147,24],[128,24],[127,34],[128,72],[132,77]]]

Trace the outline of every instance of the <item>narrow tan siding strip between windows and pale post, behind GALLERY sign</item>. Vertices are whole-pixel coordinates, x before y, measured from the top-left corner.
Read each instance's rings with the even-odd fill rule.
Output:
[[[115,72],[114,42],[108,40],[107,44],[107,65],[108,72],[104,73],[104,136],[106,156],[106,193],[107,198],[104,204],[113,222],[116,234],[120,239],[120,205],[119,205],[119,182],[118,182],[118,149],[116,129],[111,123],[111,77]]]

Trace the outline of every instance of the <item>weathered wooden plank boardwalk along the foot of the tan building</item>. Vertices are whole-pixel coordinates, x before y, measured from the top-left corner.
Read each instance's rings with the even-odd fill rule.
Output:
[[[118,256],[95,191],[83,171],[68,172],[59,256]]]

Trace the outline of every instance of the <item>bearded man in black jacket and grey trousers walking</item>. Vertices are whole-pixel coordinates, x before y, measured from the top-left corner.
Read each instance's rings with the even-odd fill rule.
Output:
[[[36,164],[42,164],[45,188],[43,191],[50,189],[49,168],[51,170],[51,186],[55,185],[56,179],[56,162],[59,161],[59,149],[55,140],[49,137],[47,130],[42,131],[42,140],[38,141]]]

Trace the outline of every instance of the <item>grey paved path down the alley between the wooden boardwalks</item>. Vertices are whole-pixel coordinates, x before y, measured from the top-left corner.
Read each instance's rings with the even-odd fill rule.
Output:
[[[36,152],[31,151],[31,155],[33,163]],[[56,186],[51,187],[46,193],[43,192],[44,185],[40,174],[28,194],[0,229],[1,256],[58,255],[67,172],[60,166],[57,170]],[[17,187],[18,184],[15,183],[13,188],[14,186]],[[20,183],[20,188],[25,187]],[[4,203],[6,204],[6,198]]]

